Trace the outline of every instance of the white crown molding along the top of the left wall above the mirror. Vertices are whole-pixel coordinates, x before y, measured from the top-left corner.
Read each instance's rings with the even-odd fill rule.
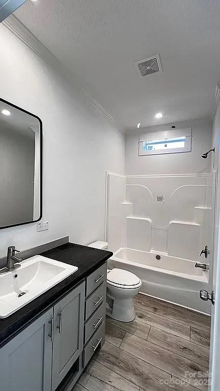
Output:
[[[67,71],[60,61],[14,16],[10,15],[2,22],[17,38],[36,53],[50,68],[62,77],[72,88],[84,97],[109,122],[124,133],[123,126],[98,103],[76,78]]]

